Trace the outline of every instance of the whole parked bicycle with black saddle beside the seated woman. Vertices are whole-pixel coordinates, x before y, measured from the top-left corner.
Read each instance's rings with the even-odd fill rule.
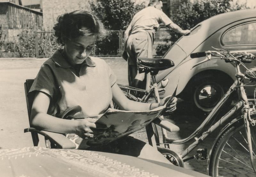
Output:
[[[216,140],[213,143],[212,149],[208,157],[207,171],[208,175],[211,176],[224,176],[227,174],[239,174],[239,176],[246,175],[247,173],[256,174],[256,109],[255,105],[250,106],[249,101],[254,101],[256,104],[256,89],[254,92],[254,99],[248,99],[245,93],[244,87],[246,86],[255,86],[255,85],[245,85],[244,78],[247,77],[251,81],[256,81],[255,71],[249,70],[245,67],[244,63],[250,63],[254,60],[254,57],[249,54],[244,53],[231,53],[226,49],[217,49],[215,51],[206,51],[191,54],[191,58],[198,58],[206,56],[202,62],[197,63],[195,66],[207,62],[211,59],[224,59],[225,62],[234,63],[236,69],[236,80],[234,84],[230,86],[228,91],[224,94],[223,98],[219,103],[214,107],[212,112],[205,118],[204,122],[198,126],[198,128],[190,136],[184,139],[174,140],[169,138],[166,134],[166,130],[162,128],[163,134],[163,143],[165,148],[160,147],[159,135],[156,129],[156,125],[153,124],[153,133],[156,139],[156,145],[158,151],[160,151],[167,159],[170,160],[176,166],[183,166],[184,162],[190,159],[207,159],[207,151],[205,149],[199,149],[197,154],[191,158],[185,159],[185,156],[188,155],[198,144],[203,142],[203,140],[212,133],[212,131],[219,128],[222,124],[225,124],[225,127],[222,128],[220,134],[217,136]],[[214,56],[214,57],[212,57]],[[154,71],[154,68],[159,68],[159,61],[166,62],[168,59],[158,59],[159,61],[153,62],[155,59],[138,58],[138,70],[140,72],[146,72],[151,74],[152,85],[148,90],[136,89],[134,87],[129,87],[125,85],[119,85],[123,90],[124,94],[131,100],[147,102],[150,96],[153,95],[156,99],[156,102],[159,102],[159,92],[157,88],[157,83],[155,76],[157,70]],[[153,63],[152,63],[153,62]],[[154,67],[154,64],[156,66]],[[164,65],[161,65],[162,69]],[[193,67],[195,67],[193,66]],[[243,66],[246,69],[245,73],[242,73],[240,66]],[[193,68],[192,67],[192,68]],[[139,99],[132,95],[132,92],[144,92],[145,95]],[[236,105],[231,108],[229,111],[225,112],[226,114],[222,116],[218,121],[216,121],[210,128],[204,132],[202,129],[214,119],[214,116],[218,114],[221,107],[224,103],[227,102],[229,96],[232,92],[237,91],[238,101]],[[160,91],[164,92],[164,90]],[[147,132],[148,133],[148,132]],[[200,134],[200,136],[199,136]],[[195,139],[192,144],[190,144],[185,150],[178,153],[169,150],[169,144],[184,144],[189,140]],[[152,143],[152,142],[151,142]],[[250,157],[246,159],[244,157]]]

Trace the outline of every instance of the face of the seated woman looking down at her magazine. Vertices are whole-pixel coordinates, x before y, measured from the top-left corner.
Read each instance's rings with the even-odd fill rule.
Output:
[[[95,43],[95,36],[78,36],[74,39],[65,40],[64,52],[68,62],[74,66],[81,64],[91,54]]]

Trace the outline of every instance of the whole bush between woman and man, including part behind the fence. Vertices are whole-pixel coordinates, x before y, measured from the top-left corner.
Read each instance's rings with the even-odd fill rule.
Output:
[[[135,4],[132,0],[97,0],[91,4],[92,11],[100,18],[109,30],[125,30],[133,15],[143,9],[144,5]],[[119,35],[119,36],[118,36]],[[123,34],[110,32],[102,41],[97,41],[95,55],[121,55],[119,38]]]

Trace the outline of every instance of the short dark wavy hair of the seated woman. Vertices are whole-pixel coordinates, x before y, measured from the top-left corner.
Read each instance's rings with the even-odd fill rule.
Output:
[[[76,38],[78,36],[92,36],[96,39],[107,35],[102,22],[88,11],[73,11],[64,13],[57,18],[58,23],[53,27],[57,42],[64,44],[63,39]]]

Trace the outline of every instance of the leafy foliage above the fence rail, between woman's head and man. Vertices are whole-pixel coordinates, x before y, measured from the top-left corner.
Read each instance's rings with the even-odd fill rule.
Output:
[[[90,4],[92,11],[110,30],[125,30],[133,15],[145,7],[132,0],[96,0]]]

